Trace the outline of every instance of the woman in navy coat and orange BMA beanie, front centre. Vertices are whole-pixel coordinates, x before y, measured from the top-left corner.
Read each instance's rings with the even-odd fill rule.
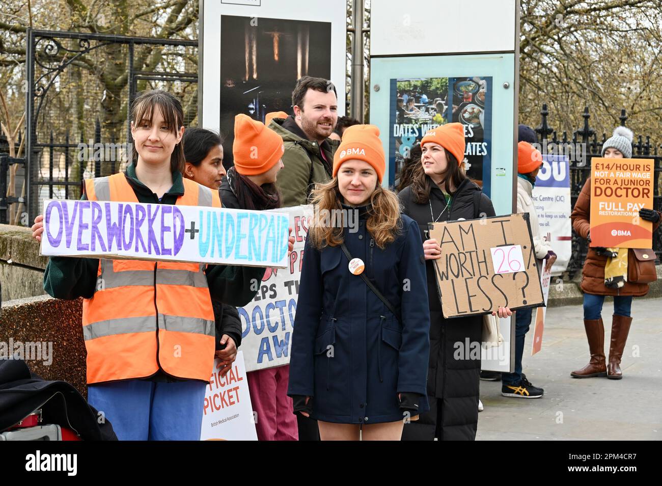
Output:
[[[422,240],[395,194],[381,187],[384,170],[377,127],[350,126],[332,181],[313,193],[287,394],[295,413],[319,421],[322,440],[357,440],[359,430],[363,440],[399,440],[404,422],[428,410]],[[348,215],[344,224],[334,224],[338,211]]]

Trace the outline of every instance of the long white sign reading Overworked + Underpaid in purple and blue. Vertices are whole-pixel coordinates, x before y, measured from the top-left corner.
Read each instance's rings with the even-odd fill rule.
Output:
[[[41,254],[285,268],[288,232],[276,211],[46,199]]]

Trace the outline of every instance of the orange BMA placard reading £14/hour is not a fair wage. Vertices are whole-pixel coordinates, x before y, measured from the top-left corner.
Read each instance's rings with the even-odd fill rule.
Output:
[[[652,159],[591,161],[591,246],[652,248],[653,223],[639,209],[653,208]]]

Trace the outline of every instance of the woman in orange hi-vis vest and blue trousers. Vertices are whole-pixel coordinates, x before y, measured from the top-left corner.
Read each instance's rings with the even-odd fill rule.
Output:
[[[85,181],[82,199],[220,207],[217,191],[183,179],[181,103],[146,91],[131,109],[133,163]],[[43,232],[35,219],[36,239]],[[213,372],[212,297],[252,300],[263,268],[51,258],[44,289],[83,297],[88,401],[120,440],[199,440],[205,386]]]

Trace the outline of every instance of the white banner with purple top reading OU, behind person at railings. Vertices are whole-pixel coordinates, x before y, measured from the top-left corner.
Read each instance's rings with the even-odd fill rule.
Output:
[[[540,238],[556,254],[551,275],[561,275],[572,256],[570,221],[570,162],[567,156],[544,154],[532,199],[538,215]]]

